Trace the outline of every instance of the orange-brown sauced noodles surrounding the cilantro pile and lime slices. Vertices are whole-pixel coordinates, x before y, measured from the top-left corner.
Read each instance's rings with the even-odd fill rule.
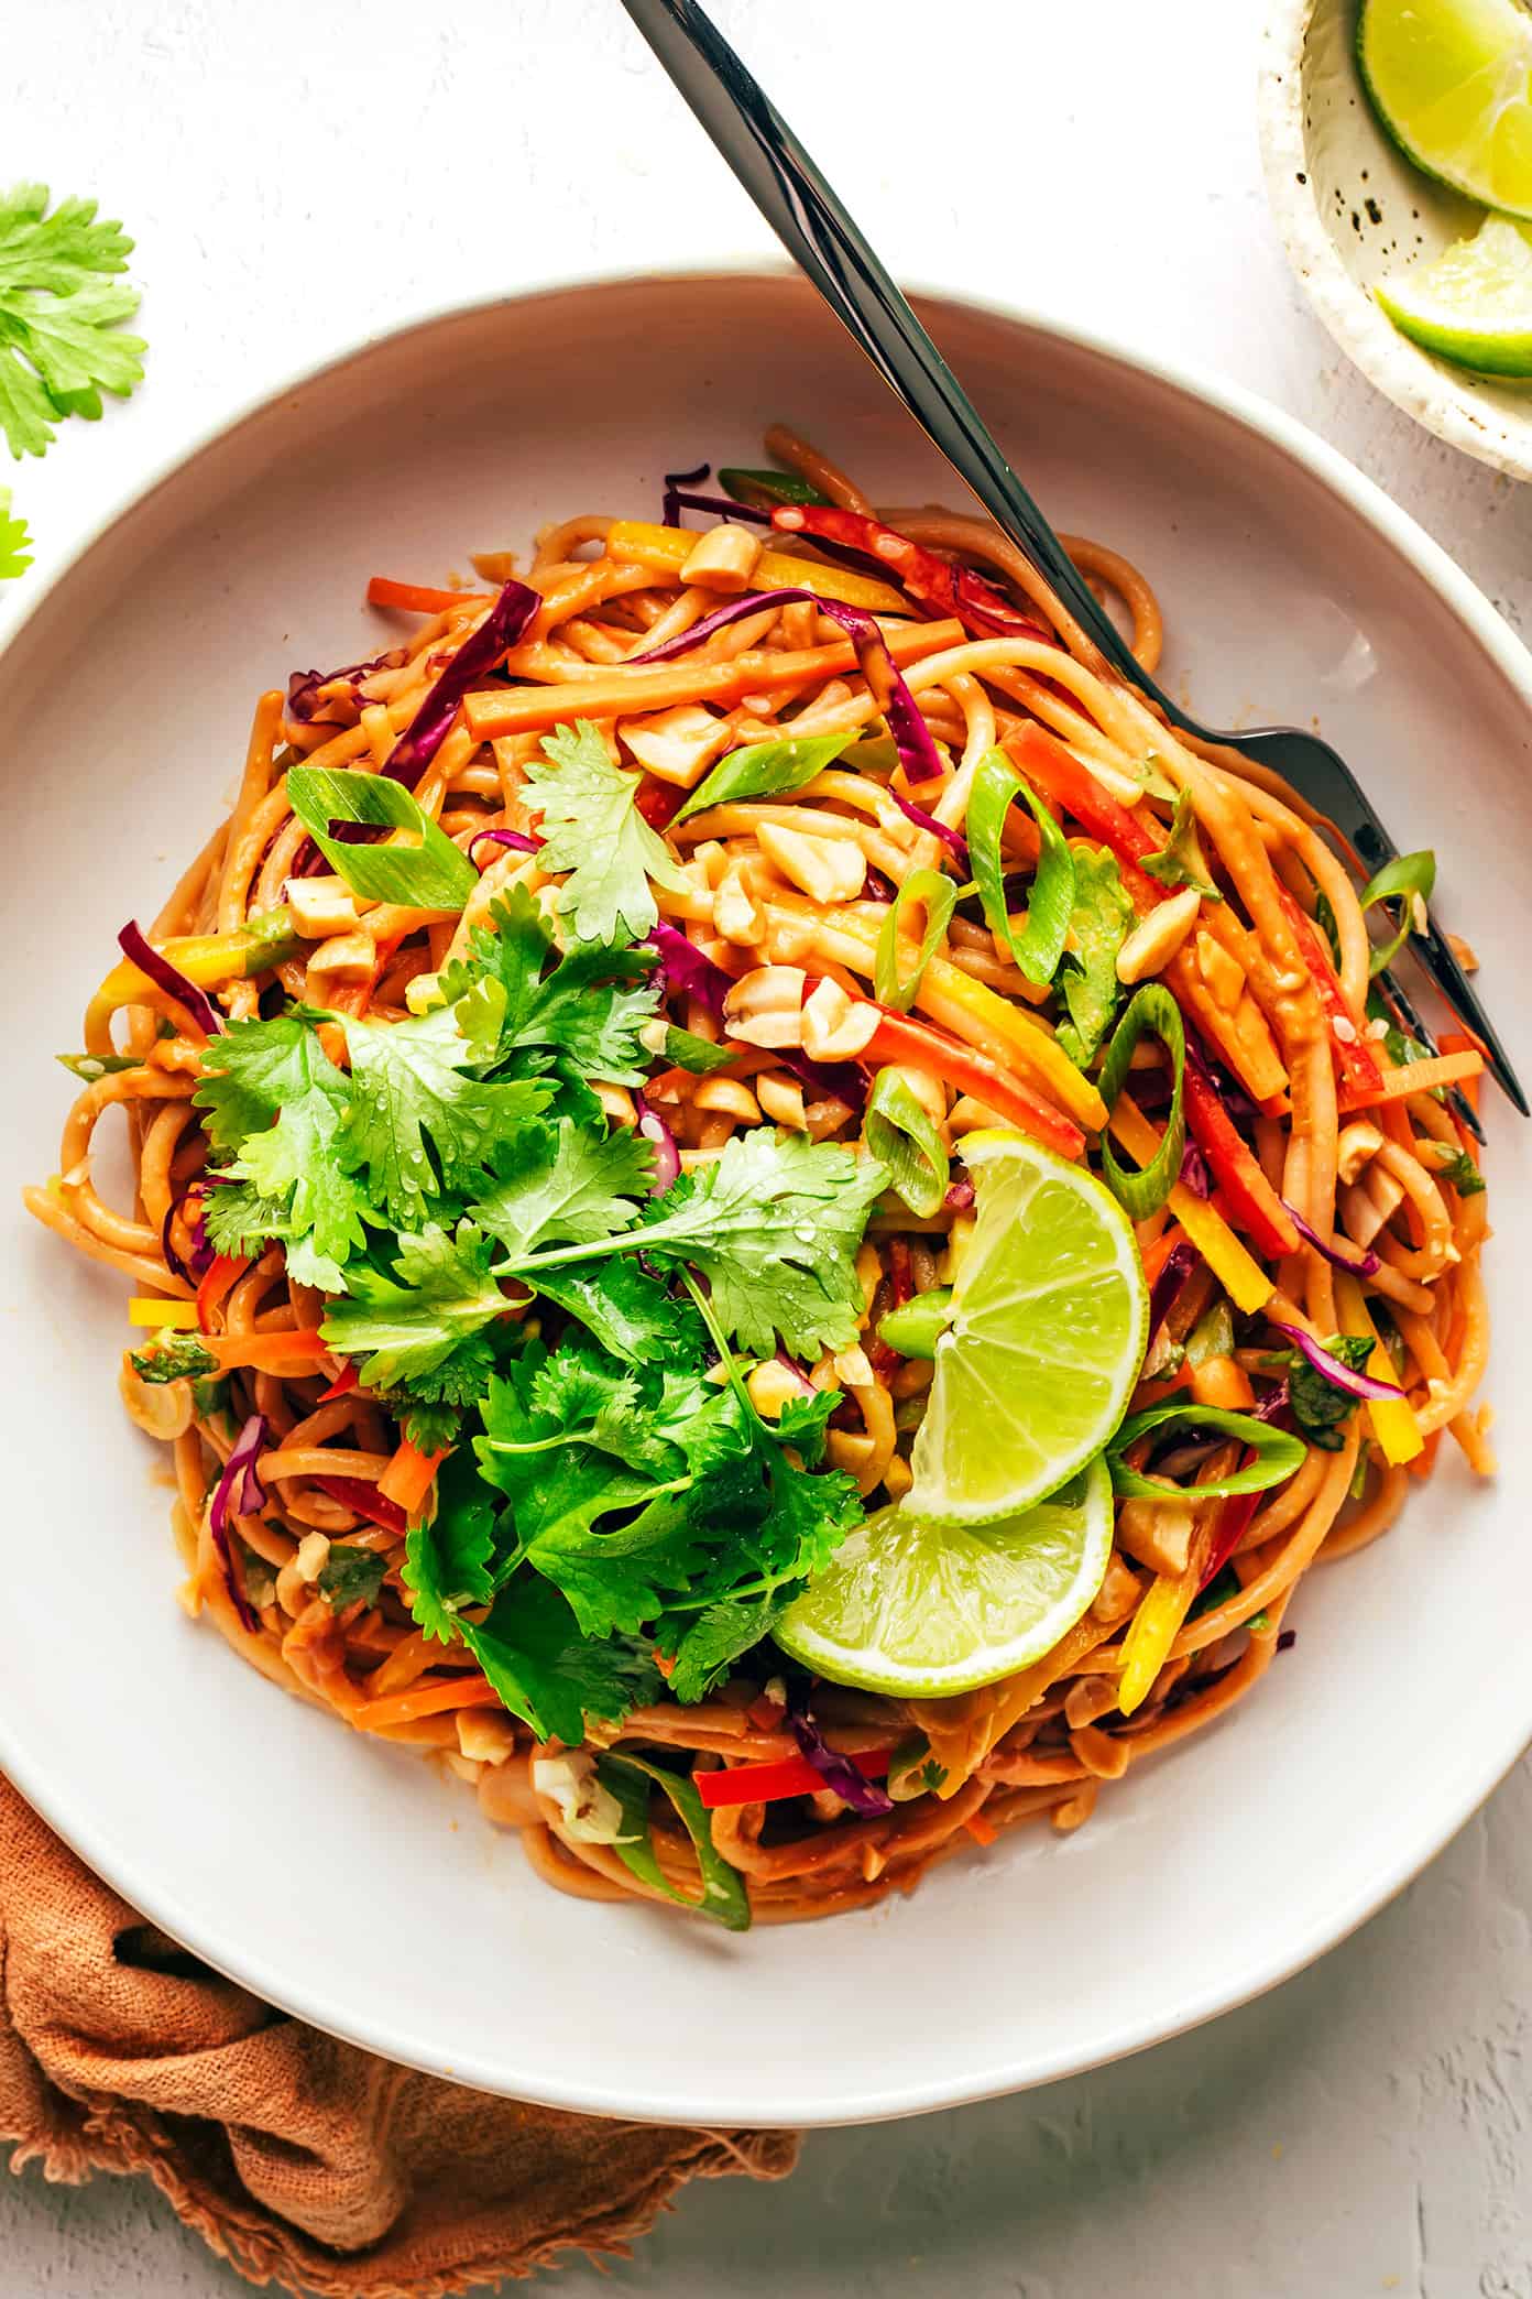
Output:
[[[409,635],[374,664],[317,683],[310,676],[301,706],[296,694],[260,697],[239,795],[186,862],[147,938],[179,975],[207,984],[225,1018],[301,1000],[402,1021],[411,982],[462,954],[496,897],[551,883],[535,851],[524,851],[537,823],[526,763],[577,715],[602,733],[616,763],[641,772],[639,812],[680,864],[675,887],[655,887],[661,920],[735,984],[797,968],[804,982],[834,984],[859,1012],[893,892],[914,871],[951,860],[939,832],[962,837],[992,749],[1029,777],[1070,841],[1116,853],[1135,906],[1119,972],[1125,984],[1162,982],[1176,998],[1217,1078],[1215,1099],[1233,1113],[1224,1129],[1238,1136],[1238,1150],[1224,1145],[1224,1163],[1210,1154],[1201,1172],[1187,1152],[1167,1202],[1135,1223],[1148,1285],[1167,1269],[1178,1283],[1167,1281],[1132,1407],[1162,1398],[1272,1407],[1279,1366],[1293,1363],[1293,1333],[1369,1338],[1371,1375],[1399,1395],[1344,1398],[1351,1409],[1330,1439],[1305,1437],[1302,1464],[1245,1504],[1194,1499],[1199,1481],[1227,1474],[1238,1453],[1231,1444],[1204,1446],[1183,1464],[1185,1506],[1119,1499],[1093,1602],[1022,1674],[907,1701],[818,1685],[813,1715],[827,1745],[877,1756],[868,1770],[889,1773],[891,1809],[857,1814],[825,1786],[712,1812],[712,1844],[742,1876],[753,1920],[788,1922],[907,1892],[949,1853],[972,1853],[1027,1821],[1080,1828],[1102,1789],[1256,1687],[1291,1641],[1284,1621],[1305,1573],[1376,1540],[1410,1485],[1436,1469],[1442,1435],[1479,1476],[1493,1474],[1493,1455],[1488,1412],[1472,1405],[1488,1354],[1479,1271],[1488,1200],[1445,1092],[1459,1085],[1472,1097],[1479,1062],[1468,1039],[1447,1035],[1442,1062],[1415,1060],[1419,1085],[1406,1076],[1419,1048],[1406,1046],[1401,1062],[1399,1021],[1378,1009],[1369,984],[1374,945],[1357,887],[1312,809],[1233,749],[1204,756],[1105,676],[1031,566],[983,522],[935,506],[873,506],[786,430],[769,432],[767,448],[806,483],[806,501],[880,522],[866,526],[873,547],[864,540],[861,556],[848,559],[831,538],[815,538],[813,517],[797,529],[779,517],[763,531],[742,524],[742,513],[678,540],[673,526],[577,515],[542,529],[526,566],[510,552],[475,559],[489,586],[517,577],[540,593],[540,607],[471,681],[413,784],[425,814],[482,864],[462,915],[358,904],[356,924],[299,936],[255,975],[218,961],[218,952],[243,949],[250,920],[283,906],[289,881],[301,883],[312,867],[287,770],[305,761],[381,772],[494,605],[492,589],[374,584],[374,600],[402,609],[395,637],[407,625]],[[884,531],[916,556],[880,556]],[[1153,669],[1162,616],[1148,582],[1105,545],[1066,538],[1066,547]],[[965,612],[960,591],[951,612],[933,605],[905,589],[905,577],[916,582],[910,568],[981,575],[983,593],[999,595],[1006,612],[985,623]],[[691,651],[634,660],[730,598],[788,586],[818,598],[765,598]],[[935,743],[937,777],[912,784],[903,759],[893,763],[864,655],[818,600],[875,612]],[[673,823],[719,756],[836,731],[859,736],[861,756],[797,791]],[[1178,816],[1183,830],[1194,825],[1201,867],[1222,899],[1144,871],[1146,858],[1171,846]],[[485,841],[485,830],[514,832],[521,844]],[[1006,816],[1004,851],[1018,874],[1036,860],[1036,832],[1020,807]],[[769,1044],[733,1028],[749,1018],[749,1000],[721,1021],[705,998],[668,982],[661,1012],[694,1037],[721,1041],[728,1032],[737,1041],[726,1067],[691,1074],[657,1064],[643,1090],[682,1170],[703,1168],[753,1127],[861,1145],[864,1113],[783,1060],[790,1030]],[[928,1058],[896,1067],[958,1170],[967,1133],[1020,1122],[1011,1104],[985,1099],[988,1074],[1004,1069],[1068,1117],[1057,989],[1020,972],[972,887],[951,910],[910,1021],[923,1028]],[[322,1037],[345,1064],[340,1030]],[[1139,1168],[1165,1122],[1160,1053],[1153,1039],[1139,1046],[1130,1092],[1109,1120]],[[172,1315],[181,1322],[191,1324],[186,1304],[195,1301],[195,1327],[223,1373],[216,1405],[193,1379],[154,1384],[126,1359],[122,1373],[129,1414],[172,1451],[186,1612],[211,1618],[273,1685],[356,1731],[439,1756],[478,1791],[489,1821],[519,1830],[547,1883],[586,1899],[659,1901],[655,1883],[572,1825],[565,1802],[537,1784],[535,1766],[558,1750],[501,1706],[464,1646],[427,1641],[416,1625],[400,1573],[407,1517],[430,1515],[430,1492],[395,1490],[402,1428],[351,1379],[345,1356],[317,1345],[324,1294],[289,1278],[280,1244],[200,1267],[198,1184],[216,1156],[191,1097],[204,1069],[218,1067],[207,1016],[140,968],[119,968],[87,1012],[76,1067],[85,1083],[64,1120],[57,1175],[28,1191],[28,1205],[57,1237],[126,1276],[136,1294],[179,1304]],[[629,1087],[597,1085],[597,1094],[611,1127],[641,1120]],[[126,1209],[96,1186],[96,1129],[108,1110],[122,1110],[131,1143]],[[1208,1150],[1194,1110],[1190,1138]],[[1082,1120],[1080,1140],[1098,1168],[1100,1127]],[[877,1327],[891,1306],[951,1283],[972,1225],[972,1191],[967,1202],[962,1189],[949,1191],[921,1218],[893,1198],[877,1200],[854,1264],[859,1347],[808,1373],[815,1386],[843,1393],[827,1460],[854,1478],[868,1508],[910,1490],[910,1448],[933,1379],[930,1359],[896,1354]],[[521,1308],[508,1299],[508,1315]],[[1204,1336],[1201,1350],[1187,1347],[1194,1336]],[[753,1395],[767,1395],[769,1368],[756,1368],[751,1382]],[[266,1432],[255,1485],[264,1506],[248,1506],[248,1483],[243,1492],[234,1485],[234,1582],[211,1494],[250,1416],[262,1416]],[[381,1563],[374,1593],[335,1602],[322,1589],[335,1545]],[[1144,1683],[1125,1713],[1119,1699],[1130,1669]],[[792,1761],[799,1738],[783,1660],[767,1641],[703,1701],[661,1697],[620,1724],[593,1722],[586,1747],[632,1750],[666,1768],[689,1763],[694,1779]],[[659,1876],[698,1897],[691,1837],[659,1793],[650,1830]]]

